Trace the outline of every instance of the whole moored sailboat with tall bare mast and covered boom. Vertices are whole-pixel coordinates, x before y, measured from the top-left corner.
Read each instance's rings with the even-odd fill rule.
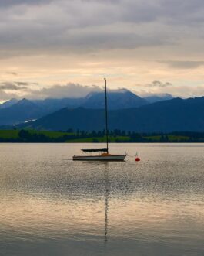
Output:
[[[74,161],[124,161],[126,154],[113,155],[109,153],[109,130],[108,130],[108,103],[107,103],[107,81],[105,80],[105,138],[106,148],[82,149],[84,153],[100,152],[99,155],[74,155]]]

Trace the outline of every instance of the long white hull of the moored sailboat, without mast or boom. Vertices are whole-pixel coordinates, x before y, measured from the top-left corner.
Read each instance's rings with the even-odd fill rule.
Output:
[[[127,155],[74,155],[74,161],[124,161]]]

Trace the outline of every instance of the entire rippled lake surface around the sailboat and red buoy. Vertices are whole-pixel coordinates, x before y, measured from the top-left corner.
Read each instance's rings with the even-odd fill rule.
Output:
[[[204,255],[204,144],[92,146],[0,144],[0,255]]]

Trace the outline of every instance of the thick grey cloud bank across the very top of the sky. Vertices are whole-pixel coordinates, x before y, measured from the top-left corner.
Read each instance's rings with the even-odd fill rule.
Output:
[[[182,27],[191,26],[195,34],[204,22],[199,0],[7,0],[1,5],[5,57],[5,50],[9,56],[172,45],[188,36]]]

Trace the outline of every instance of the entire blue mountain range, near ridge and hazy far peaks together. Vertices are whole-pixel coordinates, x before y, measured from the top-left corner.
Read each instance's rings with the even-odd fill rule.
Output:
[[[129,90],[109,92],[109,129],[138,132],[204,131],[204,97],[147,98]],[[162,100],[161,97],[164,99]],[[168,97],[168,100],[165,100]],[[84,98],[15,101],[0,105],[0,125],[66,131],[105,128],[104,94]],[[13,127],[13,126],[12,126]]]

